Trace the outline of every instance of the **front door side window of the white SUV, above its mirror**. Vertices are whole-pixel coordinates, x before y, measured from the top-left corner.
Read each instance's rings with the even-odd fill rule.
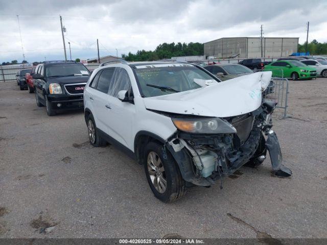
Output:
[[[118,92],[121,90],[131,90],[131,82],[127,71],[124,68],[116,67],[114,70],[112,83],[109,86],[108,94],[114,97],[118,97]]]

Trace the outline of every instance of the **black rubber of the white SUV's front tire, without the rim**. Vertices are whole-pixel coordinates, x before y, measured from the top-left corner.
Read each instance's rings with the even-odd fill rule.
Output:
[[[163,147],[164,146],[162,144],[160,144],[158,142],[154,142],[154,141],[151,141],[147,144],[147,146],[145,148],[145,152],[144,152],[144,154],[145,154],[144,155],[144,169],[145,169],[145,174],[146,174],[148,183],[149,183],[150,188],[151,188],[152,192],[154,193],[155,197],[164,203],[170,203],[170,202],[174,202],[177,199],[181,198],[186,193],[186,183],[180,174],[180,170],[177,166],[177,163],[175,162],[174,158],[172,157],[172,155],[169,153],[168,150],[166,150],[166,159],[164,158]],[[162,167],[164,168],[163,169],[164,171],[161,172],[160,177],[166,178],[166,188],[165,188],[165,191],[161,192],[161,193],[156,189],[156,187],[152,183],[152,180],[150,178],[150,173],[148,170],[148,168],[151,169],[150,171],[153,171],[153,173],[155,173],[155,171],[156,171],[153,168],[151,168],[150,165],[148,166],[148,156],[150,153],[153,153],[153,152],[156,154],[158,159],[160,159]],[[156,173],[158,173],[159,168],[161,168],[161,167],[157,168]],[[156,179],[154,177],[155,175],[151,175],[152,178],[154,178],[154,181],[156,181]],[[159,185],[159,184],[157,184],[157,185]],[[162,188],[161,188],[161,190],[162,190]]]

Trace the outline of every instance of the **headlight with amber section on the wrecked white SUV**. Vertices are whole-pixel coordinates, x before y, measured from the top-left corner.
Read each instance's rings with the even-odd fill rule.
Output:
[[[177,129],[189,133],[197,134],[230,134],[236,133],[236,129],[229,122],[220,118],[205,119],[184,119],[172,118]]]

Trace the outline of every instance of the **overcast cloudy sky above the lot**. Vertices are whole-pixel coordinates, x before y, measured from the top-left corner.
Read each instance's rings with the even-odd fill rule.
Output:
[[[221,37],[299,37],[326,42],[327,1],[287,0],[0,0],[0,62],[63,59],[59,15],[72,58],[153,50],[162,42],[207,42]],[[46,58],[45,58],[46,57]]]

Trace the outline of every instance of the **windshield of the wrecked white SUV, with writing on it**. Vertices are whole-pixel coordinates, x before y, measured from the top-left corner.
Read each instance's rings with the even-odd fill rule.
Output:
[[[137,65],[134,70],[145,97],[197,89],[218,82],[191,64]]]

